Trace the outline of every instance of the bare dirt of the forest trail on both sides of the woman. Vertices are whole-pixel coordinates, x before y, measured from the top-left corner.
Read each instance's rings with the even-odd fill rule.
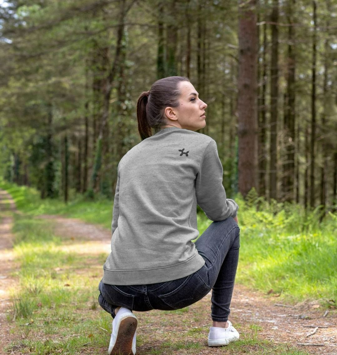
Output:
[[[4,192],[1,192],[2,200],[10,200],[8,197]],[[4,208],[4,206],[6,204],[1,204],[1,208]],[[14,208],[13,203],[10,203],[10,209],[13,211]],[[68,250],[71,248],[75,252],[83,254],[103,252],[106,255],[110,251],[110,230],[74,218],[64,218],[55,215],[42,215],[37,218],[50,220],[54,226],[54,233],[56,235],[61,236],[67,241],[72,241],[71,245],[68,244],[66,246]],[[10,234],[11,224],[12,219],[10,217],[3,218],[0,232],[0,275],[6,277],[0,279],[0,297],[2,297],[0,299],[0,328],[2,329],[0,340],[5,339],[6,342],[10,338],[14,339],[13,335],[8,337],[10,324],[6,321],[4,313],[5,308],[8,308],[10,303],[3,301],[3,299],[8,299],[6,288],[11,282],[15,281],[9,276],[9,271],[17,267],[13,261],[12,252],[9,249],[12,240],[12,235]],[[2,238],[2,236],[5,236],[5,238]],[[96,265],[95,267],[99,270],[102,266]],[[78,270],[78,273],[83,273],[83,269]],[[187,332],[186,322],[182,322],[182,320],[184,318],[191,318],[191,313],[194,312],[202,315],[205,320],[203,324],[193,324],[193,320],[190,320],[191,327],[203,327],[204,331],[204,339],[200,339],[200,341],[203,342],[205,347],[199,349],[198,354],[223,354],[220,348],[207,347],[208,327],[211,326],[210,299],[211,293],[190,306],[190,311],[182,312],[179,315],[172,315],[172,319],[175,317],[174,325],[172,326],[163,324],[165,322],[164,317],[160,316],[161,313],[155,313],[154,311],[135,312],[138,318],[137,334],[146,333],[146,335],[151,335],[149,343],[137,347],[137,354],[147,354],[150,347],[153,348],[157,344],[160,344],[163,338],[170,339],[174,332]],[[337,314],[335,310],[329,310],[325,314],[325,310],[321,310],[319,303],[315,301],[302,302],[294,306],[277,305],[280,303],[282,302],[278,301],[276,296],[264,295],[259,291],[252,291],[245,286],[237,284],[234,288],[232,298],[230,320],[242,334],[252,333],[253,330],[251,327],[257,326],[259,329],[257,337],[259,339],[270,340],[274,343],[286,343],[289,346],[308,351],[310,354],[336,355]],[[169,316],[165,315],[165,321],[166,318],[169,318]],[[151,323],[155,324],[155,328],[144,328],[145,319],[147,321],[150,319]],[[310,328],[309,326],[317,326],[319,328],[315,334],[307,337],[314,330],[314,328]],[[302,346],[298,345],[299,343],[323,344],[324,346]]]

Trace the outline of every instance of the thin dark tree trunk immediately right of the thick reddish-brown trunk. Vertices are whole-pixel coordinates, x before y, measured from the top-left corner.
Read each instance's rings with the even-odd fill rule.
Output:
[[[267,159],[266,159],[266,81],[267,81],[267,25],[263,25],[263,52],[262,52],[262,87],[259,94],[259,195],[266,195],[266,173],[267,173]]]

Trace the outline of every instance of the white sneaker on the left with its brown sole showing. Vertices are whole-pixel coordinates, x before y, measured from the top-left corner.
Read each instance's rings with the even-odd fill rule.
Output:
[[[136,316],[127,308],[121,307],[112,321],[109,355],[136,354]]]

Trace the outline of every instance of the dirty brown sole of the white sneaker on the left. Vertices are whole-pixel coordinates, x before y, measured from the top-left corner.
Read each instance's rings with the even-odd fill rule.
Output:
[[[134,317],[123,319],[118,327],[116,343],[110,355],[135,355],[132,351],[132,340],[138,321]]]

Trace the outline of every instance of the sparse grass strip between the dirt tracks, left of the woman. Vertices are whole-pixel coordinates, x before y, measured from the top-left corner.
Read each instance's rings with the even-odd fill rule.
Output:
[[[5,350],[34,354],[101,353],[109,344],[112,318],[98,307],[103,255],[67,251],[49,222],[16,215],[14,251],[19,282],[12,288],[9,320],[17,338]],[[84,269],[84,273],[78,271]],[[102,273],[102,271],[101,271]]]

